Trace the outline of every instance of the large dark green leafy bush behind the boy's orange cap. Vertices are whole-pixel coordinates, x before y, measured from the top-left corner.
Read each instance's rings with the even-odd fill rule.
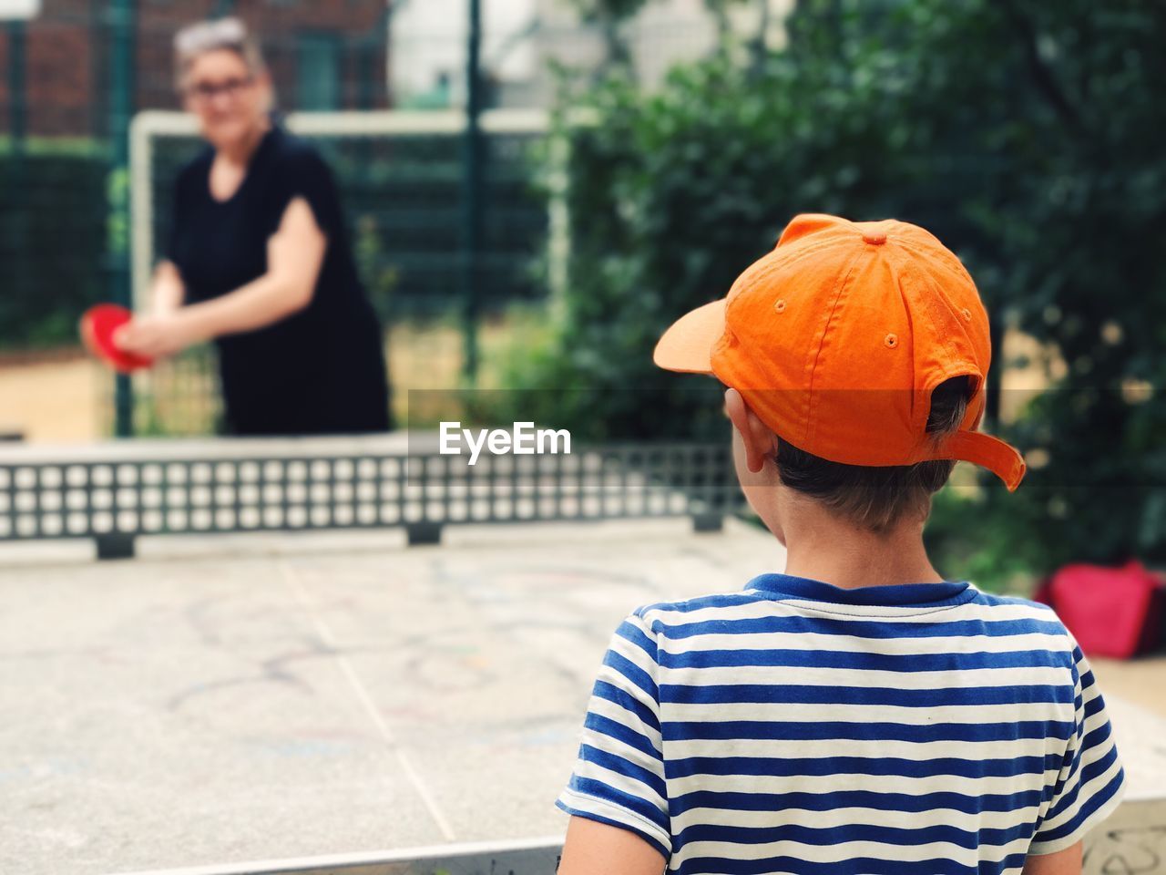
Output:
[[[798,212],[901,218],[964,260],[997,337],[1010,322],[1068,365],[1005,434],[1047,462],[1013,495],[985,480],[932,538],[990,540],[1033,574],[1166,562],[1166,399],[1123,393],[1166,378],[1166,7],[802,0],[788,35],[764,64],[726,52],[658,93],[567,93],[597,120],[562,131],[566,317],[511,373],[541,390],[534,416],[593,438],[723,434],[712,380],[653,369],[663,328]]]

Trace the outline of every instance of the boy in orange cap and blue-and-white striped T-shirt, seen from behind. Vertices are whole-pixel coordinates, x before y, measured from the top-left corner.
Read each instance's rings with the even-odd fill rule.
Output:
[[[787,550],[739,593],[616,631],[560,875],[1081,872],[1124,793],[1104,701],[1046,607],[948,581],[923,548],[979,433],[988,315],[904,222],[793,219],[655,362],[728,386],[750,505]]]

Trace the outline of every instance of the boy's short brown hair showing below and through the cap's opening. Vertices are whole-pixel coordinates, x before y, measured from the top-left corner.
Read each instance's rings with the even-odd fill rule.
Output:
[[[958,430],[972,397],[968,377],[944,380],[932,393],[927,433],[940,441]],[[830,511],[874,534],[886,534],[907,514],[926,519],[930,497],[955,468],[955,460],[868,467],[830,462],[778,439],[781,482],[824,504]]]

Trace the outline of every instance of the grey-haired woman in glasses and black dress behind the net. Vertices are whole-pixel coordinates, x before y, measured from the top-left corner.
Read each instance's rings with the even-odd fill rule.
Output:
[[[213,340],[231,434],[387,430],[380,326],[328,167],[272,118],[271,78],[238,19],[188,27],[175,48],[209,147],[177,178],[153,314],[115,343],[161,357]]]

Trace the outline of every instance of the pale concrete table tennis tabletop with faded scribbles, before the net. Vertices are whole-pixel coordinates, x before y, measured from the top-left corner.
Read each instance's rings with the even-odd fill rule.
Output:
[[[784,566],[732,520],[444,539],[143,539],[105,564],[87,545],[0,551],[0,872],[561,838],[553,800],[623,616]],[[1100,836],[1087,870],[1161,872],[1166,722],[1110,699],[1131,799],[1152,807]]]

